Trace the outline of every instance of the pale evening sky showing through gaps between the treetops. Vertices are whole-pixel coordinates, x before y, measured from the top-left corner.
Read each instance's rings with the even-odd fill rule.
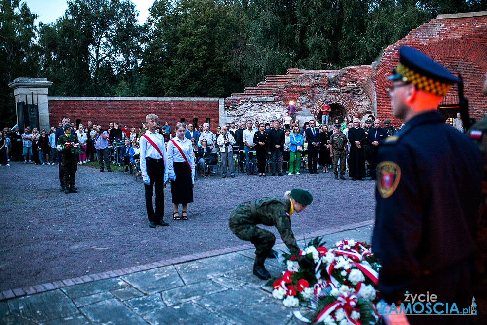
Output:
[[[139,11],[139,23],[144,23],[149,16],[149,7],[155,0],[131,0],[135,3],[135,9]],[[68,8],[67,0],[21,0],[27,3],[31,12],[36,13],[39,17],[36,24],[42,21],[45,24],[55,22],[64,14]]]

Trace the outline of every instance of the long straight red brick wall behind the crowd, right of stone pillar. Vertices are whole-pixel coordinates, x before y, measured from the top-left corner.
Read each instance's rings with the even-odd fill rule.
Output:
[[[53,97],[51,97],[53,98]],[[134,127],[137,132],[140,123],[146,119],[146,115],[154,113],[159,116],[159,122],[164,125],[168,122],[174,135],[174,127],[180,119],[186,118],[186,123],[193,123],[193,118],[198,118],[198,124],[211,119],[211,129],[216,130],[219,123],[219,110],[217,100],[67,100],[49,98],[49,120],[51,125],[57,125],[63,117],[71,121],[81,119],[86,126],[87,121],[100,124],[106,129],[110,122],[125,124],[129,128]],[[63,98],[64,99],[64,98]]]

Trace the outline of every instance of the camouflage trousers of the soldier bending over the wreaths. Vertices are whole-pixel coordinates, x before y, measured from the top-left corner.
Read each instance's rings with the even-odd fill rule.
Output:
[[[250,210],[237,207],[230,215],[229,226],[232,232],[240,239],[246,240],[255,246],[255,264],[262,265],[276,242],[276,236],[270,231],[259,228],[250,223],[253,220]]]

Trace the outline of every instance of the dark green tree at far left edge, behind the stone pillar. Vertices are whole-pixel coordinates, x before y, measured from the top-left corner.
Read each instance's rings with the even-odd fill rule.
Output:
[[[34,39],[36,14],[20,0],[0,0],[0,126],[16,121],[15,101],[8,84],[18,77],[36,76]]]

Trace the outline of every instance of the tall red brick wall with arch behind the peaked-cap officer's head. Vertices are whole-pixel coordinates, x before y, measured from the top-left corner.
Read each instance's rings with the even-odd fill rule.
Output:
[[[411,46],[445,65],[454,75],[462,74],[470,117],[477,120],[487,111],[487,99],[481,94],[483,74],[487,71],[487,16],[433,19],[413,29],[405,38],[389,46],[373,72],[377,94],[377,117],[390,118],[393,125],[402,121],[391,115],[385,78],[399,62],[400,46]],[[450,88],[442,104],[458,104],[458,87]]]

